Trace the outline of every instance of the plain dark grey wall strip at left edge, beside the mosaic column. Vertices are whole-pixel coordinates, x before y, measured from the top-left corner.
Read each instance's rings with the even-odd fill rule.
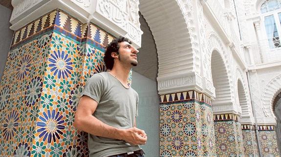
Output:
[[[13,37],[13,31],[9,29],[11,14],[12,11],[10,9],[0,5],[0,82]]]

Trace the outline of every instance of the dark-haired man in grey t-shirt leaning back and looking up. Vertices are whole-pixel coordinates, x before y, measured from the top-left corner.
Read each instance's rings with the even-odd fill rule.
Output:
[[[138,94],[127,84],[137,52],[127,38],[113,40],[104,57],[110,71],[86,83],[74,126],[88,133],[90,157],[143,157],[138,145],[146,143],[147,135],[136,128]]]

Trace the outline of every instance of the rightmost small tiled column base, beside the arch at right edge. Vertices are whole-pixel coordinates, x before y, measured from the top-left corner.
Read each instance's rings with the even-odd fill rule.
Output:
[[[279,151],[276,140],[276,132],[273,125],[259,126],[259,142],[262,156],[279,157]]]

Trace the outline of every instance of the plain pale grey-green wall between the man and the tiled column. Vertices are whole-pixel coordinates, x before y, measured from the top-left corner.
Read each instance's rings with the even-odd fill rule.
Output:
[[[159,157],[159,96],[157,82],[133,71],[132,88],[139,94],[137,127],[148,135],[141,148],[147,157]]]

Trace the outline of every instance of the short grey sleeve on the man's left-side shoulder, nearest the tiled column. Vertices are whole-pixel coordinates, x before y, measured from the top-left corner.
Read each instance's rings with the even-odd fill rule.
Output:
[[[98,73],[94,74],[91,78],[88,79],[81,95],[86,95],[99,103],[103,95],[104,87],[104,77]]]

